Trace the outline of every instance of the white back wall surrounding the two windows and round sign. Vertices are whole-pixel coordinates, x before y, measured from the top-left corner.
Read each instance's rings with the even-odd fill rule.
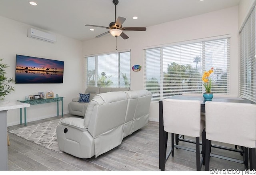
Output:
[[[125,25],[125,23],[124,23]],[[131,71],[131,89],[143,89],[143,49],[168,43],[208,38],[230,34],[230,93],[238,94],[238,6],[207,14],[184,18],[156,26],[147,27],[146,32],[126,31],[130,38],[118,37],[118,50],[131,49],[131,66],[142,66],[140,72]],[[99,54],[115,51],[116,39],[108,34],[85,41],[83,54]],[[158,121],[158,102],[150,106],[150,120]]]

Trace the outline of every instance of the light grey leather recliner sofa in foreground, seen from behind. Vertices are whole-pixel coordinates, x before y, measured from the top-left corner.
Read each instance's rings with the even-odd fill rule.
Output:
[[[84,119],[68,117],[57,126],[60,150],[80,158],[106,153],[120,145],[124,137],[148,125],[150,101],[147,90],[95,95]]]

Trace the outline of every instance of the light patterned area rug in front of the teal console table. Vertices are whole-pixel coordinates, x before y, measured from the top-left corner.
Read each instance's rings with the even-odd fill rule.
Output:
[[[56,127],[61,119],[46,121],[37,125],[31,125],[8,131],[26,140],[32,141],[42,147],[62,153],[58,147]]]

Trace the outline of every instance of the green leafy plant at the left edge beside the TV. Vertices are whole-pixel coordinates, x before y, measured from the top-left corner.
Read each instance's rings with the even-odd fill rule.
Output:
[[[13,78],[7,78],[5,69],[8,68],[7,64],[2,63],[2,58],[0,58],[0,101],[4,100],[4,97],[14,91],[14,87],[10,86],[9,83],[15,82]]]

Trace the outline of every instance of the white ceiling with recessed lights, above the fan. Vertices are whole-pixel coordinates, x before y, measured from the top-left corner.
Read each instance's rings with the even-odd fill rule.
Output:
[[[0,0],[0,16],[77,40],[90,40],[107,32],[85,24],[109,26],[115,21],[112,0]],[[240,0],[119,0],[116,16],[123,27],[149,27],[238,5]],[[133,16],[138,16],[133,20]],[[1,24],[3,25],[3,24]],[[126,31],[125,33],[128,34]]]

